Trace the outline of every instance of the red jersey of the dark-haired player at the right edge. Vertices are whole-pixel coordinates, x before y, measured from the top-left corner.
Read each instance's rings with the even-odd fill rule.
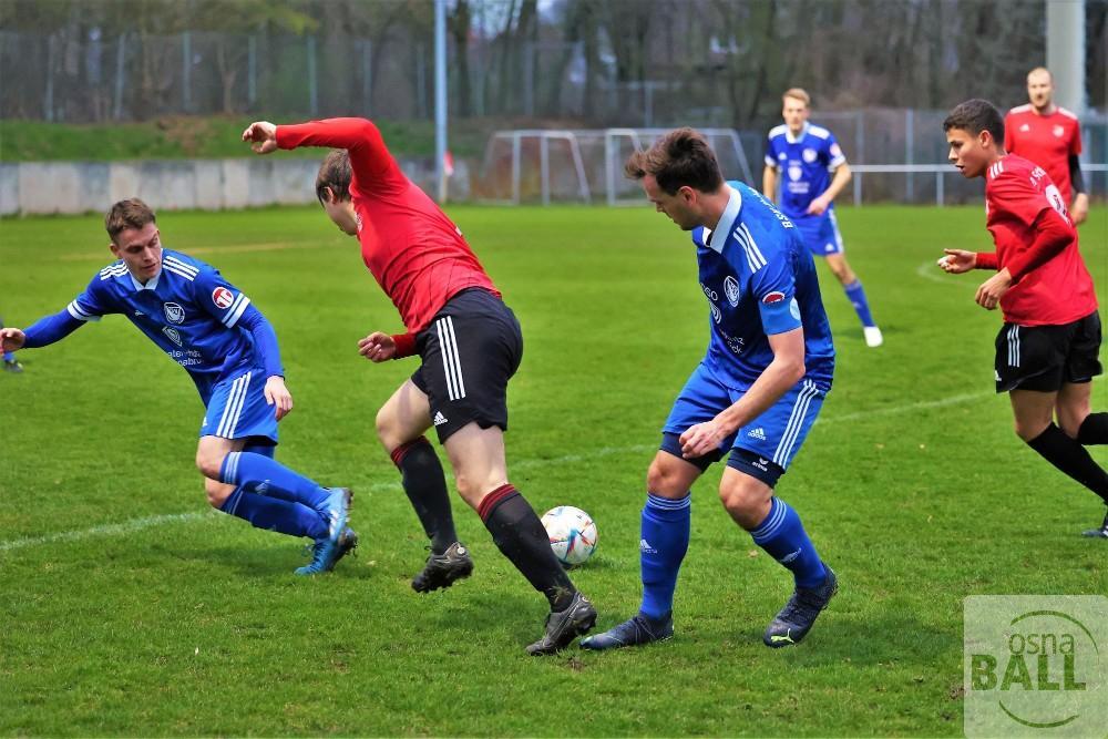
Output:
[[[1040,215],[1060,217],[1070,234],[1069,242],[1053,257],[1022,277],[1014,275],[1018,281],[1001,299],[1006,322],[1058,326],[1097,309],[1092,278],[1078,252],[1077,229],[1066,214],[1061,193],[1043,167],[1015,154],[993,164],[985,174],[985,211],[996,244],[996,264],[992,264],[992,255],[981,255],[979,267],[1009,267],[1008,271],[1018,273],[1018,265],[1027,264]]]

